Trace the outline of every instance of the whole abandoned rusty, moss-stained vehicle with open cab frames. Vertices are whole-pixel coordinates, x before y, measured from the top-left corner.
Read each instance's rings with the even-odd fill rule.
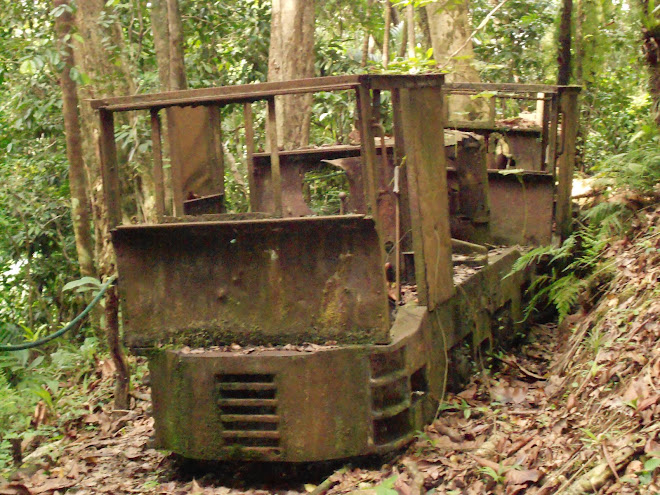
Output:
[[[359,144],[278,150],[275,98],[322,91],[352,95]],[[574,91],[524,91],[550,95],[541,141],[556,140],[551,103]],[[443,76],[424,75],[92,102],[125,340],[149,356],[159,447],[193,459],[291,462],[384,452],[409,441],[460,382],[457,349],[478,352],[520,329],[533,274],[511,273],[518,249],[492,251],[457,278],[452,236],[547,242],[555,160],[552,171],[514,181],[487,170],[483,135],[446,130],[445,98]],[[267,153],[254,145],[259,101],[271,123]],[[234,104],[245,118],[250,213],[227,213],[223,200],[220,115]],[[114,113],[131,110],[150,111],[154,145],[155,214],[137,223],[123,221],[130,187],[114,143]],[[347,196],[340,214],[313,216],[305,173],[328,164],[345,173]],[[493,214],[502,202],[520,211]],[[403,283],[416,291],[405,303]]]

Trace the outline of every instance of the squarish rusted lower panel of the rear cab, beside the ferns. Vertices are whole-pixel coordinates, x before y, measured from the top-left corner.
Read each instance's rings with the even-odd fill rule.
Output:
[[[501,244],[548,244],[552,239],[554,184],[543,172],[489,171],[491,235]]]

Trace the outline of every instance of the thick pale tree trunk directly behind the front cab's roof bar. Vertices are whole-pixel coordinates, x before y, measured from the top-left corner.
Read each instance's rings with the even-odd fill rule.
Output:
[[[314,77],[314,1],[273,0],[268,80]],[[312,95],[276,99],[278,146],[292,149],[309,143]]]

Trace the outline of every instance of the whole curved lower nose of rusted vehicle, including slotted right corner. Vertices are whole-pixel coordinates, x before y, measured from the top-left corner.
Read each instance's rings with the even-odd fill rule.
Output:
[[[157,351],[156,443],[194,459],[288,462],[400,446],[435,413],[442,353],[424,308],[402,308],[392,333],[389,345],[310,352]]]

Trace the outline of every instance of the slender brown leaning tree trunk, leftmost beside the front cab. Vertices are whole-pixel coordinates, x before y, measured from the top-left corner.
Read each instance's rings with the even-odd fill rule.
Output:
[[[73,25],[73,15],[69,0],[55,0],[55,8],[65,10],[55,18],[57,42],[64,67],[60,74],[62,88],[62,114],[64,117],[64,133],[66,135],[66,150],[69,160],[69,188],[71,189],[71,215],[73,232],[76,240],[78,264],[81,276],[93,277],[94,240],[91,230],[91,204],[87,194],[87,175],[83,160],[82,137],[80,135],[80,120],[78,118],[78,88],[71,79],[71,69],[74,66],[73,48],[68,35]]]

